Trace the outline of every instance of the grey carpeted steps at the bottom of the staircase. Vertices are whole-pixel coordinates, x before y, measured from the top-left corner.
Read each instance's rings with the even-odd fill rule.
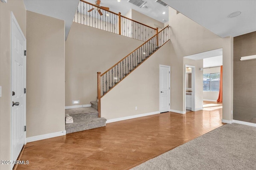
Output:
[[[74,123],[66,124],[66,133],[73,133],[106,126],[106,119],[98,117],[98,103],[91,102],[92,107],[66,109],[65,114],[73,117]]]

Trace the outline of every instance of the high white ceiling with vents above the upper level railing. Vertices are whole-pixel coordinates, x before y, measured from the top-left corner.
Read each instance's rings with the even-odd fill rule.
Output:
[[[162,23],[165,23],[169,20],[168,17],[168,6],[164,7],[158,3],[156,0],[143,0],[146,1],[145,6],[147,8],[139,8],[138,6],[131,4],[128,0],[121,0],[117,2],[117,0],[101,0],[100,6],[109,7],[109,10],[115,13],[121,12],[121,15],[125,15],[130,9],[136,10],[146,16],[154,18]],[[86,0],[86,2],[90,2],[91,4],[95,3],[95,0]],[[163,14],[165,12],[165,14]],[[163,21],[165,20],[165,21]]]

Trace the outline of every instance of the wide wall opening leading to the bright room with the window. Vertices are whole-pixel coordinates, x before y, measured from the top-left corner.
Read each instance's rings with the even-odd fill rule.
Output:
[[[215,49],[211,51],[206,51],[203,53],[197,53],[194,55],[189,55],[184,57],[186,58],[186,64],[192,64],[194,65],[194,78],[193,73],[191,75],[192,80],[192,92],[191,92],[191,98],[194,99],[194,108],[193,104],[191,106],[192,111],[198,111],[204,109],[204,107],[208,107],[205,104],[208,104],[208,102],[215,102],[217,103],[218,96],[220,92],[220,66],[222,66],[222,48]],[[190,59],[190,60],[187,60]],[[190,68],[190,65],[185,65],[185,69],[188,70]],[[191,68],[191,72],[193,72],[193,68]],[[189,73],[186,73],[185,71],[185,81],[189,81]],[[194,82],[194,90],[193,90],[193,80]],[[188,103],[187,96],[188,92],[187,90],[190,90],[190,87],[188,87],[188,82],[185,84],[185,110],[186,108],[186,102]],[[188,88],[188,89],[187,89]],[[193,96],[194,93],[194,96]],[[193,102],[193,101],[192,101]],[[217,104],[222,106],[222,104]],[[217,106],[216,105],[216,106]],[[216,107],[217,108],[217,107]],[[218,108],[219,109],[219,108]]]

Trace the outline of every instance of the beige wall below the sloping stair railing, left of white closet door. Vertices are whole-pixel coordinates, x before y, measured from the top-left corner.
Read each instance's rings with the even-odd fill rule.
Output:
[[[109,120],[159,111],[159,64],[171,65],[169,46],[166,43],[102,97],[102,117]]]

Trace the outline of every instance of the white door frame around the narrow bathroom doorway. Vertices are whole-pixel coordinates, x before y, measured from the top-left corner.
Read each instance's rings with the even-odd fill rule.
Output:
[[[184,110],[186,112],[186,67],[191,67],[192,70],[191,70],[191,90],[192,90],[192,94],[191,94],[191,111],[196,111],[196,67],[195,66],[192,66],[192,65],[188,65],[188,64],[185,64],[184,65],[184,103],[185,103],[185,106],[184,106]]]

